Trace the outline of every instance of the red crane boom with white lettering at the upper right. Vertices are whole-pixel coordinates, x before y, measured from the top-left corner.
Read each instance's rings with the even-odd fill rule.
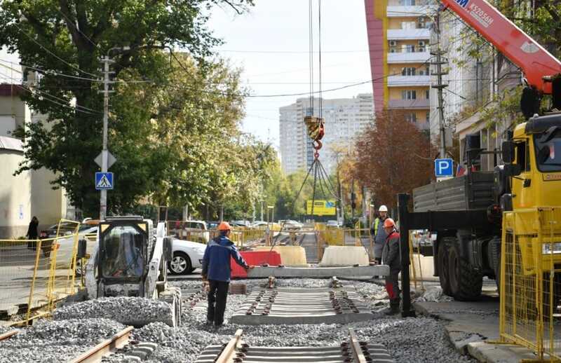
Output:
[[[441,1],[520,67],[530,86],[551,94],[552,85],[543,77],[561,74],[560,60],[485,0]]]

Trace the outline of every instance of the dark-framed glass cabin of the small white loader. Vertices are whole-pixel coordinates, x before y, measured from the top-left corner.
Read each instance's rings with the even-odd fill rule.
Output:
[[[100,224],[99,276],[111,282],[141,282],[149,260],[149,221],[107,219]]]

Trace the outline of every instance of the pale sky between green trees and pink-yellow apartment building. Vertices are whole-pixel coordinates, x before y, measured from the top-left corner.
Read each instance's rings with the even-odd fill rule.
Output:
[[[236,15],[215,8],[209,27],[225,41],[222,57],[243,68],[242,80],[252,94],[307,93],[309,81],[309,1],[255,0],[250,13]],[[318,51],[318,0],[313,0],[314,48]],[[321,1],[323,90],[369,81],[370,60],[364,0]],[[314,53],[318,80],[318,53]],[[315,85],[318,90],[318,85]],[[366,83],[325,92],[324,98],[372,93]],[[278,146],[278,108],[298,97],[255,97],[246,102],[243,130]]]

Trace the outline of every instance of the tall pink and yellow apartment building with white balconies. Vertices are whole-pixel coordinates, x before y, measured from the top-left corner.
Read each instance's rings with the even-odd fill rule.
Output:
[[[377,111],[399,110],[430,125],[431,0],[365,0],[372,90]]]

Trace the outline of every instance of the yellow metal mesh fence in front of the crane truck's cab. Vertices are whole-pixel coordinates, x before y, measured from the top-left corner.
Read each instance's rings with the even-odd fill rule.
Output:
[[[500,340],[561,359],[561,207],[506,212],[499,277]]]

